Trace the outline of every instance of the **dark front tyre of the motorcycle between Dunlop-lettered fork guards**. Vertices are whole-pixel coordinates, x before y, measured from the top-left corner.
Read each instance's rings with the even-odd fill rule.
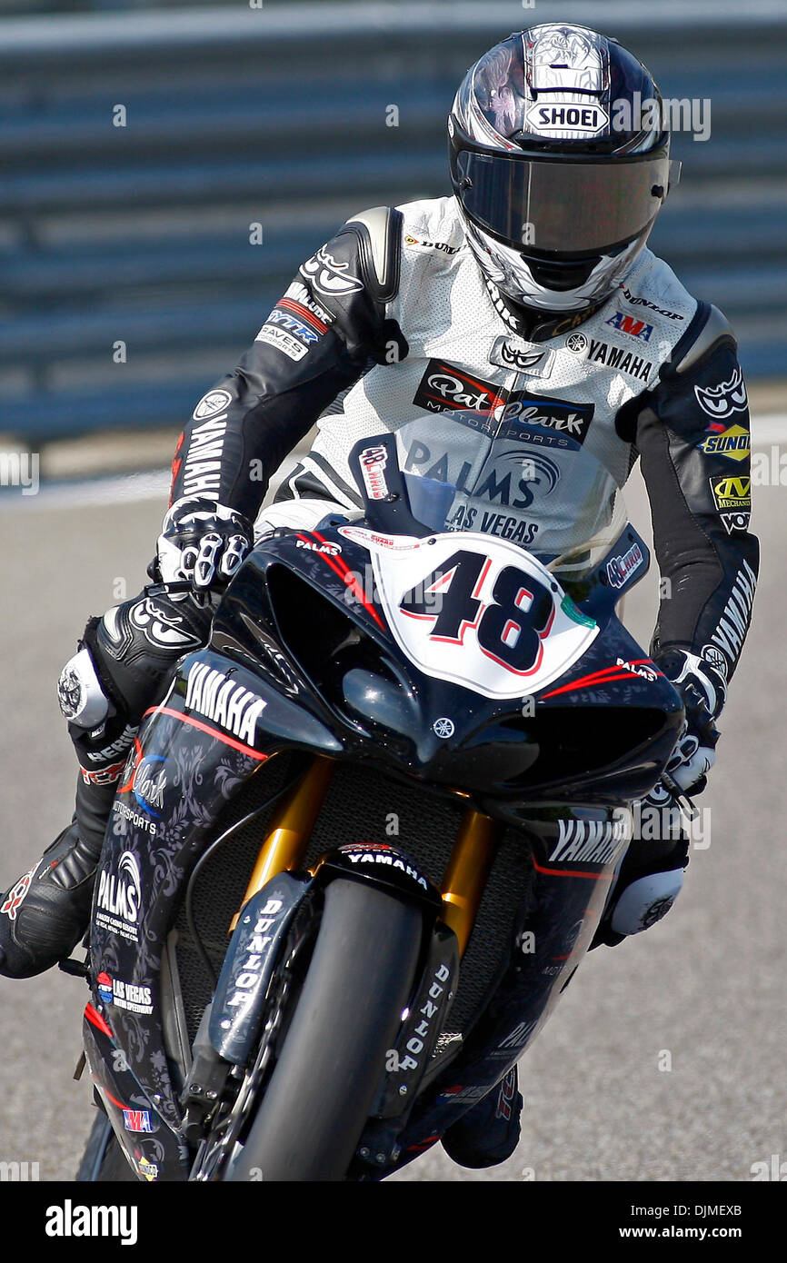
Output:
[[[325,894],[315,951],[243,1153],[225,1180],[342,1180],[411,995],[422,917],[361,882]]]

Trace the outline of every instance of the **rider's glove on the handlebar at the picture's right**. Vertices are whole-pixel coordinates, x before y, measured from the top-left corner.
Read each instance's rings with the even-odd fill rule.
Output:
[[[670,649],[656,663],[677,688],[686,711],[683,730],[664,770],[683,793],[697,794],[705,789],[706,773],[716,762],[715,720],[726,700],[726,679],[704,658],[683,649]]]

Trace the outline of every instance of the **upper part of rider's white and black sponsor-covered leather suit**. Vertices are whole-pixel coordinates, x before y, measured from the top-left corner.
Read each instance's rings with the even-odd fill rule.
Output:
[[[499,421],[502,465],[480,489],[472,528],[526,546],[556,514],[576,512],[572,446],[601,470],[599,520],[640,457],[670,580],[652,650],[683,648],[729,679],[758,567],[745,386],[725,318],[649,250],[590,314],[550,317],[514,309],[484,278],[454,198],[355,216],[301,266],[239,368],[195,409],[172,498],[207,496],[256,517],[269,476],[320,418],[311,452],[261,519],[313,525],[360,504],[347,453],[361,437],[395,431],[411,472],[445,479],[462,409]],[[424,410],[435,412],[432,445]],[[527,488],[510,466],[507,480],[517,447],[558,469],[541,501],[538,461]]]

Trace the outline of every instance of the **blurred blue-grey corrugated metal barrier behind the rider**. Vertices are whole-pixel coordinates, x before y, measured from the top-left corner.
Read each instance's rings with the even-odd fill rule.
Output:
[[[592,18],[591,18],[592,13]],[[0,431],[177,423],[352,212],[450,191],[465,68],[555,18],[616,35],[664,96],[683,181],[651,245],[787,370],[787,5],[299,5],[0,24]]]

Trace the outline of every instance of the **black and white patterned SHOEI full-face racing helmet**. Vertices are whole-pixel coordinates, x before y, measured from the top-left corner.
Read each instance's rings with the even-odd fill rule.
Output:
[[[481,270],[544,312],[598,307],[680,177],[646,67],[614,39],[556,23],[509,35],[470,67],[448,153]]]

